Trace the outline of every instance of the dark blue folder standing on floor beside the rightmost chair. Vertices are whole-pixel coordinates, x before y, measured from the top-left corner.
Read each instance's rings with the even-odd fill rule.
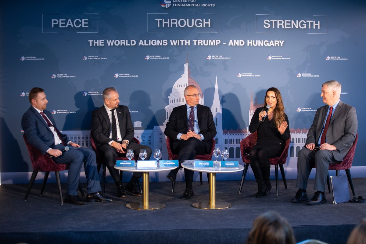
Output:
[[[333,203],[345,203],[350,200],[347,176],[330,176],[332,185]]]

